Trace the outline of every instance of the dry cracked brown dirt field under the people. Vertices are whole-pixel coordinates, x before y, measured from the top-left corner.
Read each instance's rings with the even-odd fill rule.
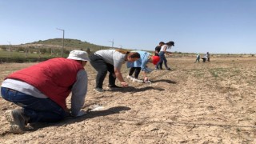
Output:
[[[129,81],[128,88],[102,94],[94,92],[95,70],[87,65],[84,110],[94,105],[104,109],[34,124],[25,134],[9,132],[3,114],[16,106],[0,98],[0,143],[256,143],[255,57],[168,61],[173,70],[154,70],[152,84]],[[32,64],[0,64],[0,82]],[[125,65],[122,71],[126,77]],[[106,79],[104,88],[107,84]]]

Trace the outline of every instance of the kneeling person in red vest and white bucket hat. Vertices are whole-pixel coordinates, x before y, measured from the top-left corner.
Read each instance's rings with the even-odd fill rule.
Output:
[[[73,50],[68,58],[52,58],[8,75],[2,82],[2,98],[22,108],[6,110],[10,131],[23,133],[27,123],[58,122],[67,116],[82,116],[87,93],[90,61],[82,50]],[[71,108],[66,98],[71,95]]]

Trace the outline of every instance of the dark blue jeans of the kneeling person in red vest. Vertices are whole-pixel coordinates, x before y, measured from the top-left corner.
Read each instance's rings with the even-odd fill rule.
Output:
[[[58,122],[66,118],[67,114],[61,106],[50,98],[35,98],[16,90],[1,87],[2,98],[14,102],[24,109],[24,113],[33,122]]]

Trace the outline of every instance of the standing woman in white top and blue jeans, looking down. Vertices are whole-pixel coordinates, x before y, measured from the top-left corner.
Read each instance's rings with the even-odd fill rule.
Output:
[[[166,50],[170,49],[171,46],[174,46],[174,42],[170,41],[165,43],[164,45],[161,46],[161,50],[159,52],[159,57],[160,57],[160,61],[158,62],[158,64],[155,66],[155,70],[158,70],[158,66],[160,65],[161,62],[164,62],[164,65],[166,66],[166,70],[170,70],[170,67],[167,66],[167,60],[166,60]]]

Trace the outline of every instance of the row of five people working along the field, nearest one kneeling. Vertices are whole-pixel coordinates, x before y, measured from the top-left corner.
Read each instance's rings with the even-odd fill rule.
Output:
[[[158,55],[142,50],[98,50],[88,54],[82,50],[73,50],[67,58],[52,58],[39,62],[8,75],[2,82],[1,95],[6,101],[13,102],[21,108],[6,110],[5,117],[10,122],[10,131],[23,133],[26,125],[34,122],[58,122],[66,117],[78,117],[86,114],[84,105],[88,78],[85,70],[87,62],[97,71],[94,90],[104,92],[102,86],[109,72],[109,87],[127,87],[128,82],[122,76],[121,67],[126,62],[130,72],[126,78],[134,82],[147,82],[146,74],[150,68],[148,62],[160,66],[164,62],[166,70],[166,49],[174,46],[174,42],[160,42]],[[142,71],[143,80],[138,79]],[[134,74],[134,77],[132,76]],[[115,83],[116,78],[121,86]],[[71,106],[67,108],[66,98],[71,94]]]

